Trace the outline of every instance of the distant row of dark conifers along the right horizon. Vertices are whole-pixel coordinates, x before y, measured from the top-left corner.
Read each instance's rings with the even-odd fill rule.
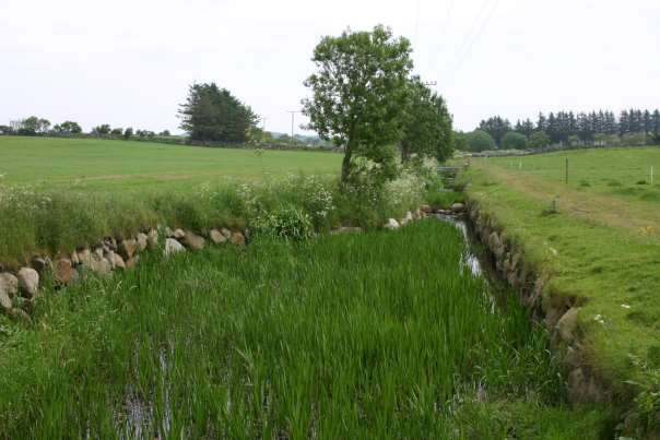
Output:
[[[558,111],[537,121],[494,116],[470,133],[457,133],[456,146],[469,151],[525,150],[549,145],[565,147],[660,144],[660,110],[573,112]]]

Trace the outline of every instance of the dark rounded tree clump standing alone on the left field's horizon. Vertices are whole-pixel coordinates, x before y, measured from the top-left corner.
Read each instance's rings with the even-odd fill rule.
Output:
[[[191,85],[179,117],[195,141],[244,143],[258,122],[250,107],[215,83]]]

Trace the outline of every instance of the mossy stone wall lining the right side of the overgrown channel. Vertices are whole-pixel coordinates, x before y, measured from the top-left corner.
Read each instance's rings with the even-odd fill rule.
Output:
[[[478,202],[468,201],[467,214],[498,277],[517,293],[532,318],[547,329],[551,346],[568,373],[569,400],[611,402],[611,387],[589,362],[588,348],[581,341],[578,317],[584,300],[576,295],[553,292],[549,287],[551,275],[526,261],[523,247],[510,239]]]

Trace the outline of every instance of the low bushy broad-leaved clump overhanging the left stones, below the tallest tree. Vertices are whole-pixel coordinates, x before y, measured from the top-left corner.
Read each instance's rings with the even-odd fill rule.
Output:
[[[303,241],[313,234],[311,218],[295,206],[284,206],[261,217],[252,225],[257,235]]]

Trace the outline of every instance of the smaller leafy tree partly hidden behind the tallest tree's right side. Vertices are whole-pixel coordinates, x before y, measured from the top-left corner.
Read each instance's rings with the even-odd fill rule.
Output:
[[[445,99],[417,76],[409,82],[409,99],[401,139],[401,160],[435,157],[444,162],[452,151],[451,116]]]

